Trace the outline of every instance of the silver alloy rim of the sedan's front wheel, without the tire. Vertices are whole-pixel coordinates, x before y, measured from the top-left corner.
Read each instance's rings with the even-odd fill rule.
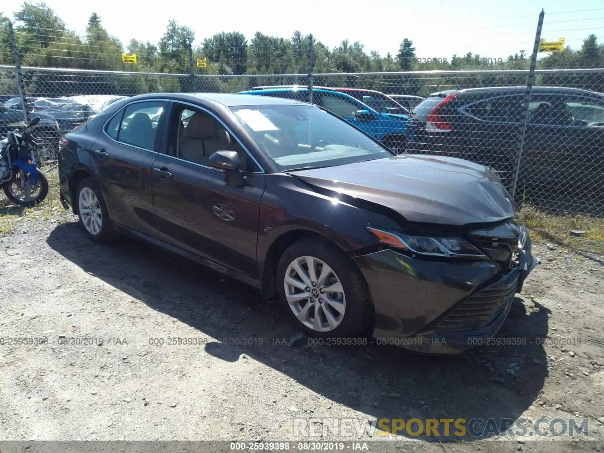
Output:
[[[289,308],[309,329],[330,332],[344,319],[344,288],[338,275],[322,260],[298,257],[289,264],[283,283]]]

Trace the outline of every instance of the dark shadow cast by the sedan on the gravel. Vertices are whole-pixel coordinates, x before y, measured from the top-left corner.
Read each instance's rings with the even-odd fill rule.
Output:
[[[376,344],[318,345],[308,338],[288,347],[297,332],[275,301],[263,301],[254,289],[204,266],[134,240],[98,245],[76,223],[56,226],[47,243],[88,274],[216,339],[206,345],[207,353],[230,362],[245,354],[369,419],[480,418],[480,431],[492,418],[497,426],[485,433],[491,436],[500,431],[501,419],[522,416],[547,376],[538,339],[547,336],[549,312],[536,302],[515,298],[493,344],[458,356]],[[149,327],[153,337],[169,333],[168,327]],[[338,416],[323,406],[298,410],[295,416],[304,419]],[[438,431],[435,439],[460,440],[452,424],[448,437],[442,423]]]

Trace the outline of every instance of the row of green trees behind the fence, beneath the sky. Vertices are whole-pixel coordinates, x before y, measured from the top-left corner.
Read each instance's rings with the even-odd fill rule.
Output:
[[[135,82],[124,87],[126,77],[111,79],[106,75],[88,75],[66,82],[62,86],[47,86],[48,92],[98,92],[94,83],[103,82],[101,91],[135,94],[146,91],[190,91],[191,80],[189,52],[193,62],[205,59],[204,67],[194,66],[196,74],[210,75],[255,75],[274,74],[271,79],[232,77],[212,77],[204,79],[204,86],[194,89],[204,91],[232,91],[254,85],[275,83],[306,83],[309,70],[309,36],[294,31],[291,37],[275,37],[260,32],[246,39],[239,31],[228,31],[205,37],[195,43],[195,33],[191,28],[168,21],[159,42],[141,42],[134,37],[124,47],[123,43],[111,36],[103,27],[100,16],[91,13],[83,36],[68,30],[65,22],[43,2],[24,2],[14,14],[16,42],[21,64],[24,66],[82,68],[112,71],[162,72],[182,74],[175,77],[157,77],[143,75]],[[8,41],[8,18],[0,13],[0,44],[6,50],[0,54],[0,63],[11,64],[10,43]],[[121,54],[137,54],[138,63],[123,63]],[[501,85],[525,83],[522,74],[448,75],[442,77],[399,74],[397,76],[351,76],[355,72],[408,72],[433,69],[527,69],[530,56],[524,50],[518,51],[506,59],[485,58],[480,54],[468,52],[450,58],[437,56],[418,58],[413,40],[404,38],[396,56],[387,53],[382,56],[374,50],[365,50],[360,42],[350,43],[342,40],[339,45],[329,48],[320,40],[313,38],[313,72],[338,73],[341,76],[315,76],[315,85],[346,85],[379,89],[387,92],[426,95],[440,89],[457,86]],[[194,63],[195,64],[195,63]],[[580,49],[565,48],[561,53],[540,56],[538,69],[549,68],[592,68],[604,66],[604,45],[600,45],[594,34],[588,36]],[[27,73],[27,71],[25,71]],[[301,74],[299,77],[279,77],[283,74]],[[604,91],[602,77],[594,74],[575,74],[564,80],[564,85]],[[130,77],[129,80],[132,80]],[[35,81],[30,80],[31,84]],[[539,75],[536,83],[560,85],[558,76]],[[0,84],[1,85],[1,84]],[[31,85],[34,86],[34,85]],[[56,89],[55,89],[56,88]],[[38,92],[42,92],[40,88]]]

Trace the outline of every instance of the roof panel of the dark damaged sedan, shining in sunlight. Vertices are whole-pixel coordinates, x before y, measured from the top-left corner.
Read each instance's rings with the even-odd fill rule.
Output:
[[[251,94],[239,93],[150,93],[141,94],[127,98],[129,101],[141,100],[146,98],[170,98],[174,100],[189,101],[194,103],[215,103],[226,107],[246,106],[246,105],[292,105],[306,104],[302,101],[260,97]]]

